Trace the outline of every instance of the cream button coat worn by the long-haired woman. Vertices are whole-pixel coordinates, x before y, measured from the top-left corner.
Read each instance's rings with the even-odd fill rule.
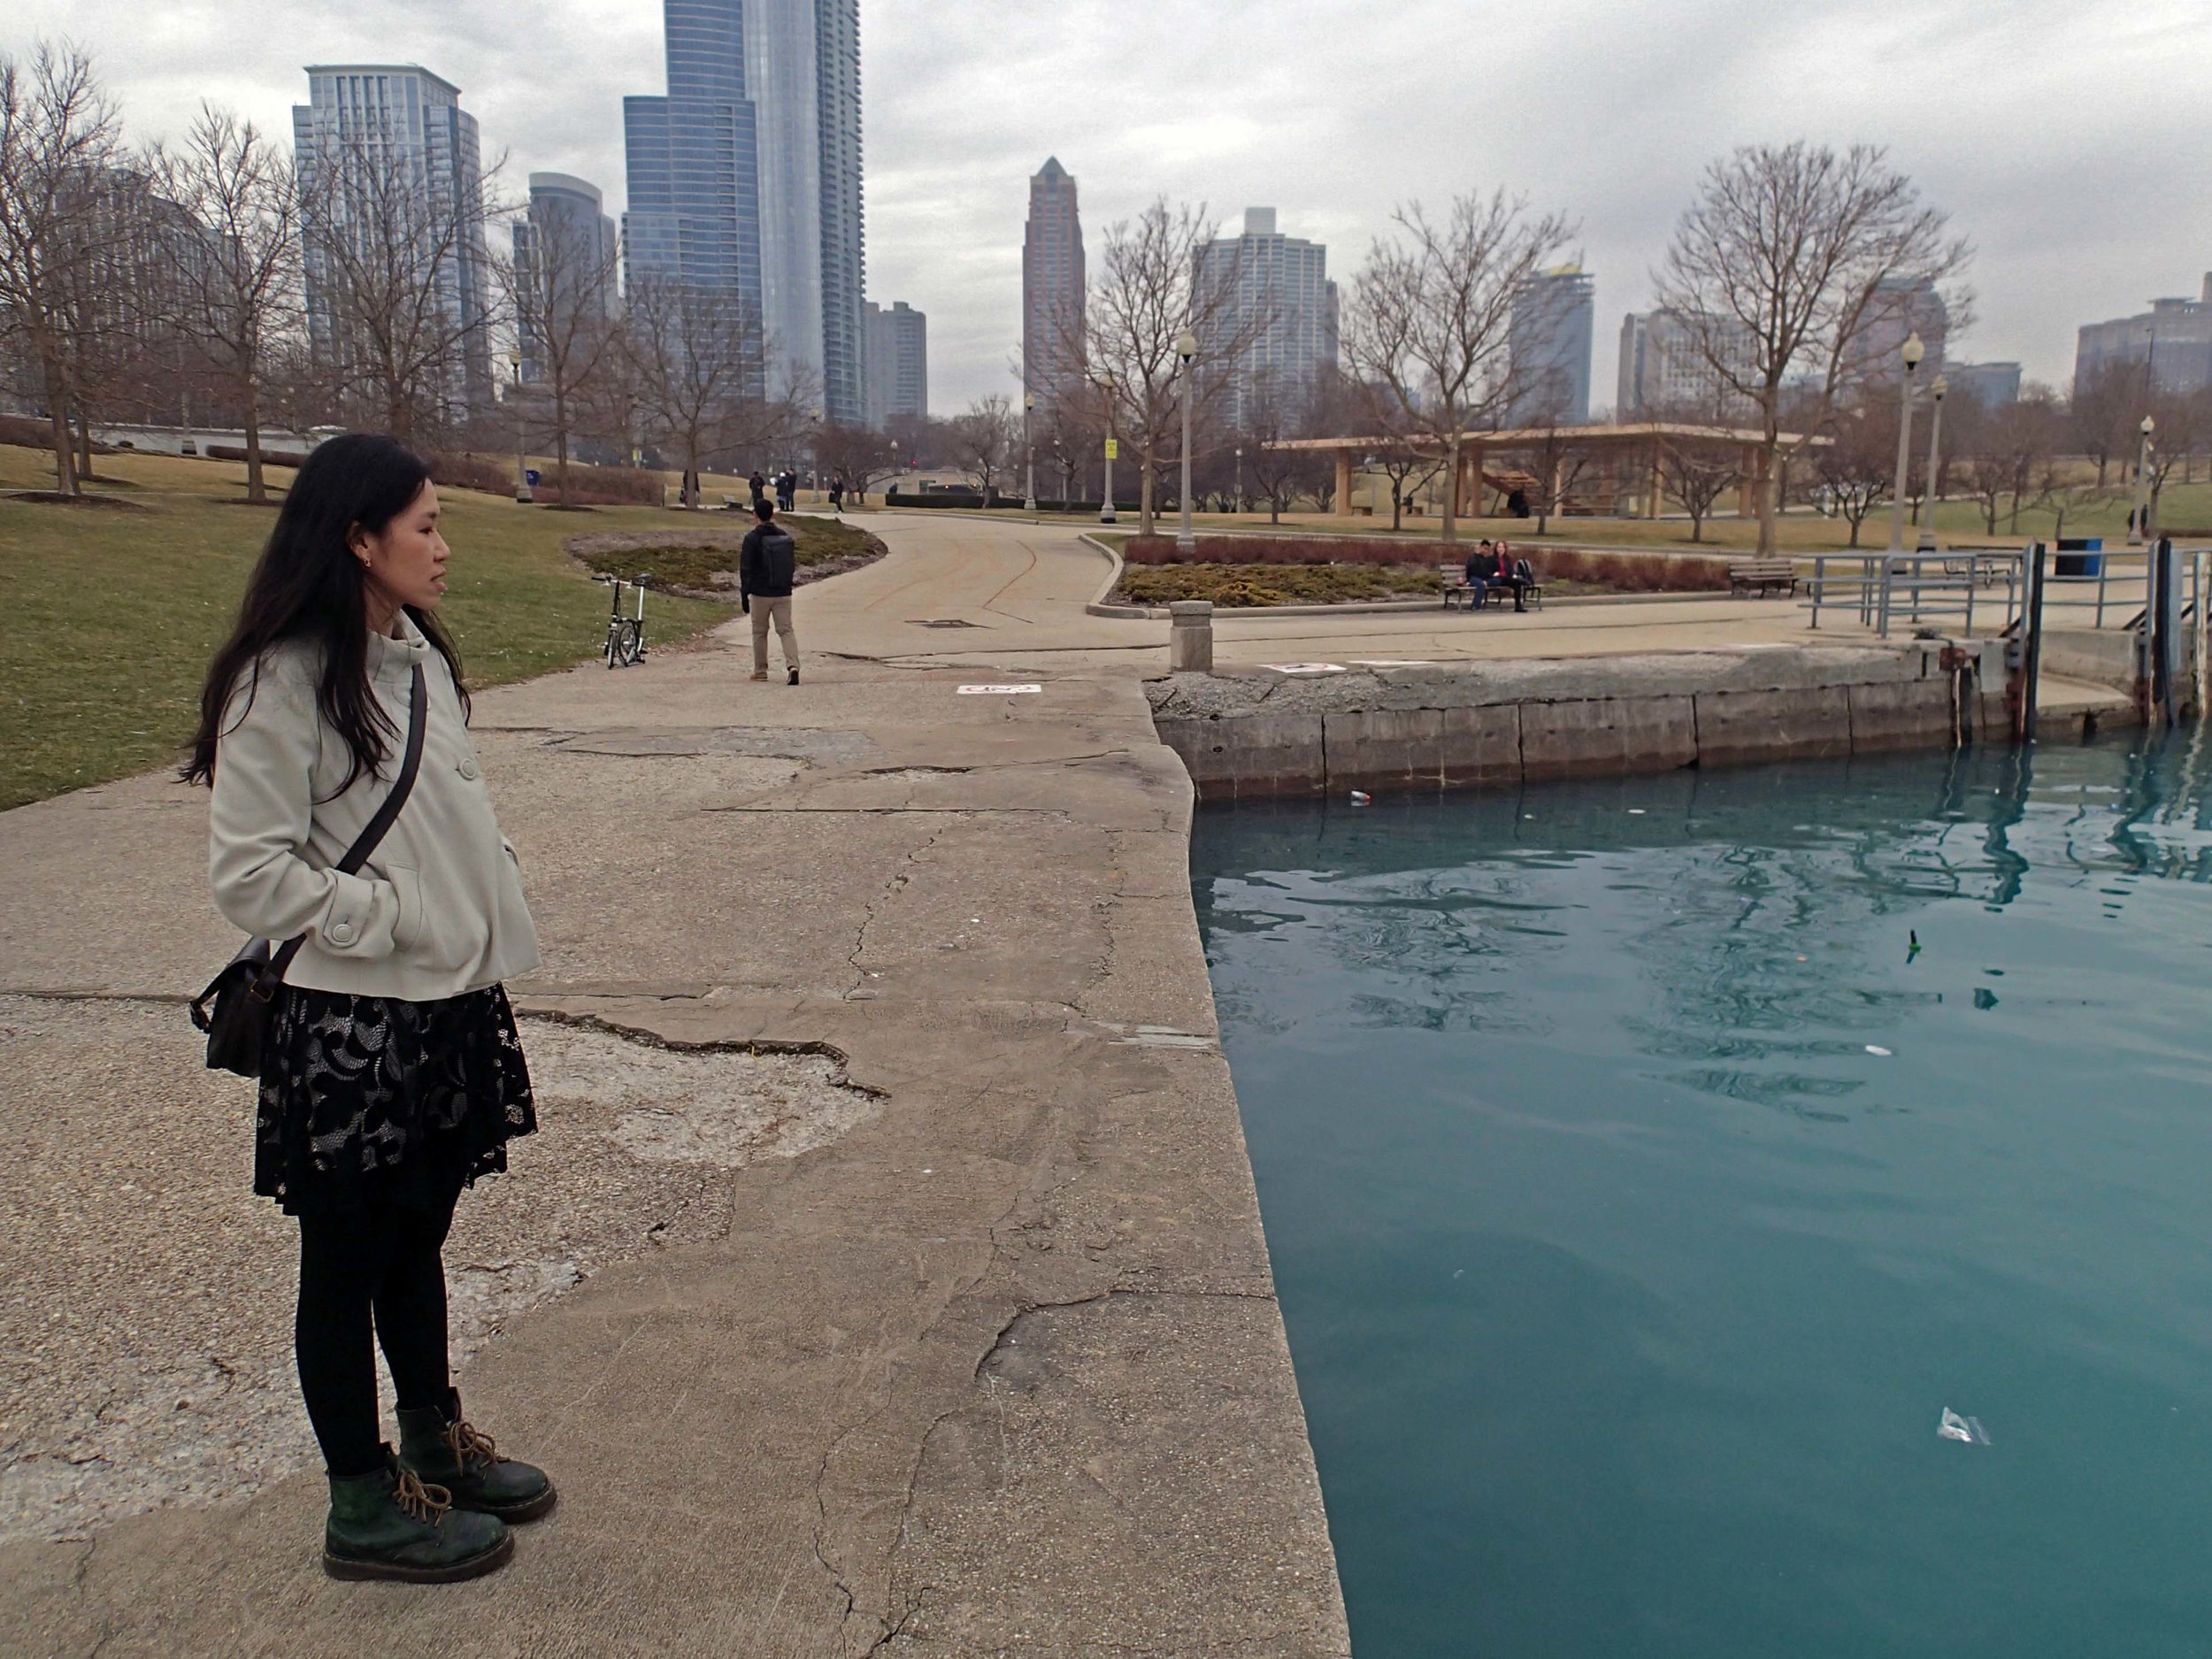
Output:
[[[538,931],[445,657],[405,615],[400,633],[369,639],[369,684],[400,737],[383,776],[345,794],[345,743],[314,706],[316,653],[283,646],[250,695],[250,675],[239,681],[215,750],[208,869],[232,925],[307,936],[288,984],[434,1002],[538,967]],[[416,664],[429,688],[422,770],[361,874],[343,876],[332,865],[398,774]]]

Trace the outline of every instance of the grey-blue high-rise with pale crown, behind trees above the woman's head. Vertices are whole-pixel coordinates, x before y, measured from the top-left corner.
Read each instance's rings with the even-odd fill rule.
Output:
[[[301,181],[330,204],[305,239],[316,356],[361,358],[354,312],[376,296],[349,296],[347,272],[403,268],[394,259],[411,243],[429,265],[438,332],[456,341],[434,387],[442,414],[458,420],[489,405],[484,175],[460,88],[420,64],[310,64],[307,102],[292,106],[292,150]]]

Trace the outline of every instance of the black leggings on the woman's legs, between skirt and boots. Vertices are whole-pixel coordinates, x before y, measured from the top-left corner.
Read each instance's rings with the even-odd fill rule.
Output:
[[[383,1467],[376,1429],[376,1343],[400,1411],[445,1407],[445,1232],[453,1203],[378,1206],[299,1217],[299,1391],[332,1475]]]

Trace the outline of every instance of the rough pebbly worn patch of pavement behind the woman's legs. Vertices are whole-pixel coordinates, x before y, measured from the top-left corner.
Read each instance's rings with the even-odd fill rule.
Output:
[[[878,1108],[821,1055],[679,1053],[524,1020],[535,1137],[447,1245],[453,1360],[522,1310],[728,1228],[728,1172]],[[252,1197],[252,1084],[184,1009],[0,998],[0,1540],[82,1537],[316,1462],[296,1234]],[[389,1391],[385,1398],[389,1411]]]

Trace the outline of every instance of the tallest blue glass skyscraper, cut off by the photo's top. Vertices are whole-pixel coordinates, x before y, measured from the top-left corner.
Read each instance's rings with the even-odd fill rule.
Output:
[[[728,290],[863,416],[858,0],[664,0],[668,95],[622,100],[628,274]]]

